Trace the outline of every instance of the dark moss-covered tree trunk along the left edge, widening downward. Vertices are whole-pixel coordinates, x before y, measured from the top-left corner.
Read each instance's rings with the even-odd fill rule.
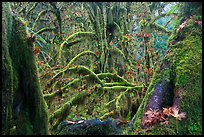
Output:
[[[48,112],[25,23],[2,4],[2,132],[48,134]]]

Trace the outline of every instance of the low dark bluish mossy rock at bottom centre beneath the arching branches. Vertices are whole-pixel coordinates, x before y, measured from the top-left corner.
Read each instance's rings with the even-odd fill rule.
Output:
[[[121,133],[118,120],[110,118],[105,121],[97,118],[78,122],[63,121],[58,130],[58,135],[115,135]]]

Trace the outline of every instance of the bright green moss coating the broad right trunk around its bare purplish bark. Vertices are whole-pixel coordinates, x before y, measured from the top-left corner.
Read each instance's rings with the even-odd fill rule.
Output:
[[[165,56],[163,64],[168,63],[170,68],[165,69],[166,67],[161,65],[154,73],[145,97],[132,120],[135,133],[200,135],[202,134],[202,28],[196,24],[194,19],[189,19],[182,30],[175,31],[171,35],[168,45],[170,51]],[[169,74],[170,72],[171,74]],[[150,101],[158,90],[158,84],[162,84],[163,80],[173,84],[171,88],[174,98],[170,99],[172,102],[168,105],[176,105],[179,112],[186,112],[186,118],[178,121],[170,117],[168,126],[157,124],[145,132],[142,130],[142,118],[148,107],[153,108],[154,105],[157,105],[156,101],[154,103]],[[160,97],[164,98],[164,96]],[[169,100],[167,98],[164,101],[168,102]],[[153,109],[162,109],[162,107],[164,106],[157,106]]]

